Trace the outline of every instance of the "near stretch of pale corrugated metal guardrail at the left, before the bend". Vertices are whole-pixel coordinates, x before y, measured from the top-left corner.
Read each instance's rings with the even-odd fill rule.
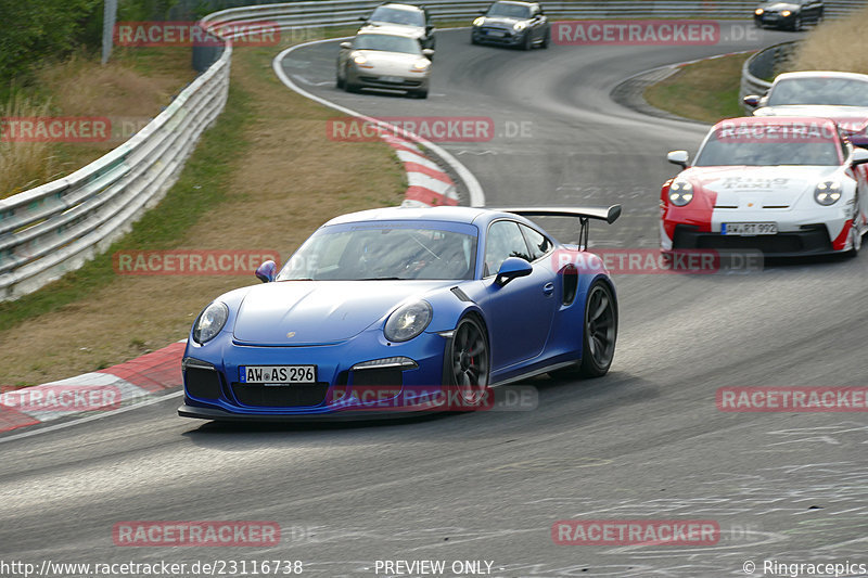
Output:
[[[222,112],[231,48],[127,142],[68,177],[0,200],[0,300],[79,268],[175,183]]]

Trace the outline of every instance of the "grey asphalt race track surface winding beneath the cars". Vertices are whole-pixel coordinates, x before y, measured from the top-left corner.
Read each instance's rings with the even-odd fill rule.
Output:
[[[665,154],[694,153],[706,127],[643,116],[610,92],[655,66],[796,36],[748,23],[722,33],[704,47],[521,52],[471,46],[465,29],[441,31],[426,101],[336,90],[335,42],[296,50],[283,65],[305,89],[375,116],[489,116],[492,140],[444,145],[489,205],[623,203],[623,218],[593,223],[591,240],[653,248],[660,184],[676,172]],[[516,126],[523,136],[506,134]],[[534,380],[533,411],[251,427],[178,418],[173,397],[0,437],[0,558],[290,560],[322,577],[397,575],[376,574],[378,560],[487,561],[502,577],[745,576],[746,561],[754,576],[771,576],[764,561],[868,563],[865,414],[715,404],[724,386],[868,384],[866,281],[864,254],[752,274],[617,275],[611,373]],[[554,544],[552,524],[573,518],[715,521],[720,537],[713,545]],[[273,521],[282,540],[115,545],[113,526],[139,519]]]

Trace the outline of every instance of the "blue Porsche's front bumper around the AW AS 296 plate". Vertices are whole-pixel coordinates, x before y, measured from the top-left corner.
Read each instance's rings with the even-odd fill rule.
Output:
[[[178,412],[207,420],[354,414],[371,418],[378,413],[412,412],[419,408],[412,402],[414,394],[408,395],[408,390],[425,394],[427,388],[443,383],[448,339],[437,333],[422,333],[407,343],[388,343],[379,329],[337,344],[293,347],[243,345],[235,343],[228,332],[204,346],[191,339],[182,368],[184,406]],[[356,368],[391,358],[401,359],[403,365]],[[245,384],[239,369],[296,364],[316,365],[317,383]],[[400,403],[384,402],[393,394]]]

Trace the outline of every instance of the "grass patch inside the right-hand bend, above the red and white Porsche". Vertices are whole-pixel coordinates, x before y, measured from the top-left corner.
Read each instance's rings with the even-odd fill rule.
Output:
[[[749,56],[733,54],[688,64],[648,87],[644,99],[652,106],[703,123],[743,116],[739,87],[741,67]]]

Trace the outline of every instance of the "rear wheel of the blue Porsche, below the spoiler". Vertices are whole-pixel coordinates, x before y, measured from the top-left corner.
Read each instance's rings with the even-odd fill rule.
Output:
[[[585,298],[584,331],[582,332],[582,364],[584,377],[600,377],[609,372],[617,339],[617,304],[604,281],[595,281]]]

